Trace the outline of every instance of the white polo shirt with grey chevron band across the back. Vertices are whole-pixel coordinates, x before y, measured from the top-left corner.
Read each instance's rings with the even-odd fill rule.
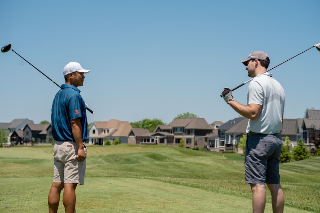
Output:
[[[247,99],[248,105],[259,104],[262,108],[257,119],[249,119],[246,133],[274,134],[282,130],[284,89],[272,73],[259,74],[250,82]]]

